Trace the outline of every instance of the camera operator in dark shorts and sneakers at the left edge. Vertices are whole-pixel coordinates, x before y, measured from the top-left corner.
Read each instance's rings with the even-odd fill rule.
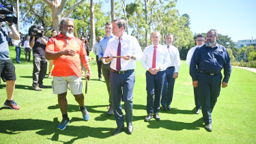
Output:
[[[6,81],[7,92],[7,100],[3,105],[10,109],[18,110],[20,106],[12,99],[15,89],[16,74],[14,64],[9,56],[10,51],[7,40],[8,38],[20,40],[20,35],[12,23],[5,22],[9,27],[2,25],[3,18],[5,18],[5,16],[0,14],[0,75],[3,81]]]

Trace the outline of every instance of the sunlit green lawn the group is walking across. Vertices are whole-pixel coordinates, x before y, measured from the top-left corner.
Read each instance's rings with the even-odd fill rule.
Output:
[[[15,61],[14,47],[10,48]],[[92,53],[91,53],[92,55]],[[57,130],[61,112],[57,96],[51,89],[52,78],[45,78],[42,91],[31,90],[32,63],[16,64],[14,100],[20,106],[12,111],[0,106],[0,143],[256,143],[256,74],[233,68],[229,86],[221,89],[221,96],[212,113],[212,132],[203,128],[203,119],[193,114],[195,102],[188,66],[182,61],[179,78],[175,82],[171,111],[160,111],[160,121],[144,122],[146,113],[145,69],[137,63],[134,86],[134,132],[111,136],[115,119],[106,116],[109,104],[104,81],[98,81],[96,61],[91,61],[92,77],[85,95],[90,113],[83,121],[79,106],[68,91],[70,125]],[[83,78],[84,84],[85,79]],[[85,86],[83,87],[85,91]],[[0,102],[6,100],[5,83],[0,85]]]

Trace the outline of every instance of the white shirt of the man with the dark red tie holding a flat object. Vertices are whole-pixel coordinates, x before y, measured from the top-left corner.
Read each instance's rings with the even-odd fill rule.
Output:
[[[104,57],[110,55],[110,56],[117,56],[117,47],[119,44],[119,39],[114,36],[111,38],[108,42],[108,45],[106,46],[106,51],[104,52]],[[141,46],[139,45],[138,40],[131,35],[127,35],[124,33],[121,37],[121,56],[125,55],[133,55],[136,57],[136,61],[140,61],[141,57],[143,55],[143,52],[141,50]],[[130,59],[128,61],[121,58],[121,70],[132,70],[136,68],[136,61],[133,59]],[[105,59],[103,59],[103,63],[107,63]],[[111,61],[110,67],[113,70],[116,70],[116,64],[117,59],[114,58]]]

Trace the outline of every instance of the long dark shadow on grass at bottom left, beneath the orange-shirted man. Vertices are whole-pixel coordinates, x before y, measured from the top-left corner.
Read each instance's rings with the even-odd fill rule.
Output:
[[[83,119],[72,118],[70,122],[83,121]],[[51,135],[51,141],[59,141],[59,135],[72,136],[69,141],[61,141],[63,143],[74,143],[78,139],[86,137],[94,137],[98,139],[106,139],[111,136],[113,128],[92,128],[89,126],[67,126],[65,130],[57,130],[59,121],[57,117],[53,121],[46,121],[42,119],[14,119],[14,120],[0,120],[0,133],[4,134],[19,134],[23,131],[39,130],[35,132],[39,135]]]

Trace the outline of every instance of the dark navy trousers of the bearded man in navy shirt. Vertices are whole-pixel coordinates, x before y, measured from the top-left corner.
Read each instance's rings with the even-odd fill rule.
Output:
[[[205,125],[212,124],[212,111],[217,102],[221,91],[222,74],[210,76],[209,74],[199,73],[199,96]]]

